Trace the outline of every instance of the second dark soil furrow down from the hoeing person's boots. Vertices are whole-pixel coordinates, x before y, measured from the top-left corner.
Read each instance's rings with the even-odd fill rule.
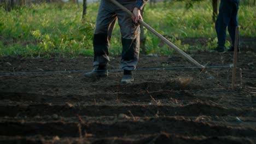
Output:
[[[63,117],[85,116],[117,116],[120,113],[134,116],[253,116],[252,109],[227,108],[207,103],[195,103],[185,106],[170,105],[0,105],[0,116],[43,116],[58,115]]]

